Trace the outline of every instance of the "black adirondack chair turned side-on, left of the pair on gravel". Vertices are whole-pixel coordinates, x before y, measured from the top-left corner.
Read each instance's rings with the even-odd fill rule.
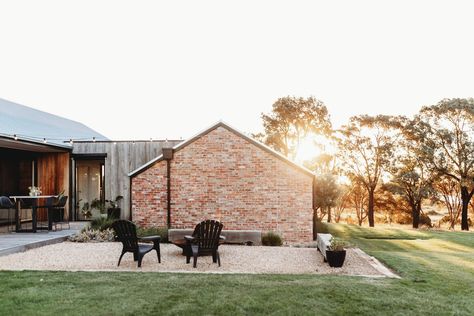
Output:
[[[112,228],[117,234],[118,240],[122,242],[123,249],[120,255],[117,266],[120,266],[120,261],[125,253],[133,253],[133,260],[138,261],[138,267],[142,266],[142,259],[145,254],[149,253],[153,249],[156,250],[158,255],[158,262],[161,263],[160,254],[160,236],[148,236],[148,237],[137,237],[137,229],[134,223],[126,220],[117,220],[112,224]],[[141,244],[138,241],[151,241],[151,244]]]

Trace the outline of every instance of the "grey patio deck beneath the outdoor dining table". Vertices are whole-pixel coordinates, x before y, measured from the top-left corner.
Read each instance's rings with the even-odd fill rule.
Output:
[[[63,242],[80,231],[86,222],[71,222],[71,229],[38,233],[0,233],[0,256]]]

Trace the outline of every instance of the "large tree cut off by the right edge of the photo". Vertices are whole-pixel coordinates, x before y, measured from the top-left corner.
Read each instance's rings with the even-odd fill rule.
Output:
[[[469,230],[468,208],[474,194],[474,99],[444,99],[421,109],[412,133],[417,154],[440,176],[457,182],[461,229]]]

